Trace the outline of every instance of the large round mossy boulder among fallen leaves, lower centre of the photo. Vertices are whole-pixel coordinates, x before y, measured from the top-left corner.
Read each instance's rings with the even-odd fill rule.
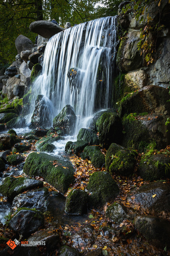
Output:
[[[119,194],[119,187],[106,171],[93,173],[88,183],[89,207],[102,207]]]

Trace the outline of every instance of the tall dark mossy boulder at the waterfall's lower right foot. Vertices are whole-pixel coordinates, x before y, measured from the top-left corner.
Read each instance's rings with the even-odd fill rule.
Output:
[[[99,132],[99,141],[103,147],[108,148],[111,143],[120,144],[122,141],[122,122],[116,113],[105,112],[96,122]]]

